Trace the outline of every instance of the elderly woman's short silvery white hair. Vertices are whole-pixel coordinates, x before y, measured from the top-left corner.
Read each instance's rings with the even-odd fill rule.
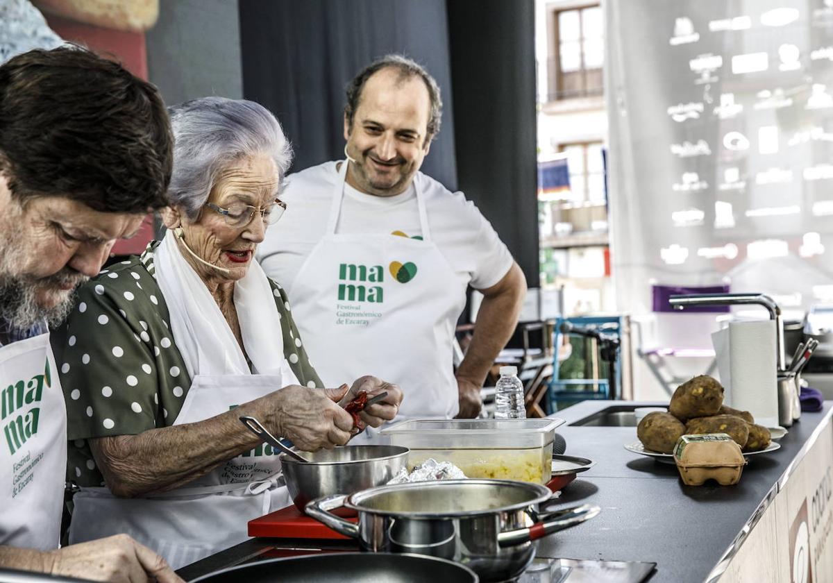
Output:
[[[278,180],[292,163],[292,146],[266,107],[245,99],[202,97],[169,107],[173,130],[173,172],[167,189],[172,206],[192,221],[208,200],[222,170],[243,157],[265,153]]]

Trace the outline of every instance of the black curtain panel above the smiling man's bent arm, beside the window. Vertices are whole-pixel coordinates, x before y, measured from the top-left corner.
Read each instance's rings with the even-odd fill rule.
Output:
[[[534,2],[447,4],[458,185],[539,287]]]

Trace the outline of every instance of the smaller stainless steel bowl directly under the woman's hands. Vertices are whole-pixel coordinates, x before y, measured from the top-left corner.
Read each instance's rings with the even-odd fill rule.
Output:
[[[307,502],[332,494],[356,492],[391,481],[407,464],[408,448],[401,446],[344,446],[302,452],[307,463],[281,454],[289,495],[300,511]]]

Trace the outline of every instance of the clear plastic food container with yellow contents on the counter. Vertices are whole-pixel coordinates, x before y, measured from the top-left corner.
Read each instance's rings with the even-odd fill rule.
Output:
[[[429,457],[449,461],[469,478],[546,484],[552,471],[552,436],[562,419],[449,419],[402,421],[382,430],[405,446],[408,469]]]

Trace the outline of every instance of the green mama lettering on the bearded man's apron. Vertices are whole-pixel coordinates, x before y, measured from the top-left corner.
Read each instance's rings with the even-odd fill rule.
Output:
[[[32,407],[28,411],[22,409],[41,401],[43,386],[52,386],[48,360],[42,375],[32,376],[28,381],[12,383],[0,392],[0,423],[3,426],[3,435],[6,436],[8,451],[12,454],[37,433],[40,407]]]

